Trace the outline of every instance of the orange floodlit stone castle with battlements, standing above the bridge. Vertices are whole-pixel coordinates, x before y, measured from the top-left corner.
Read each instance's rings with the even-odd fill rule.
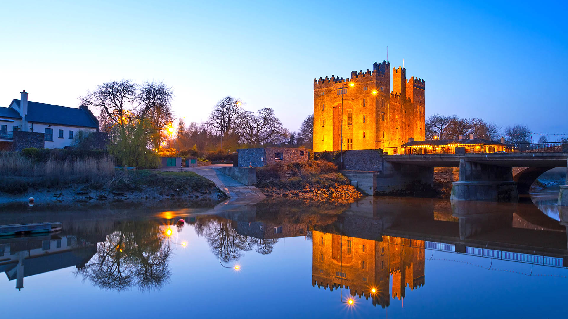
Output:
[[[314,79],[314,152],[400,146],[412,137],[424,140],[424,80],[406,79],[406,70],[375,62],[373,71],[351,78]]]

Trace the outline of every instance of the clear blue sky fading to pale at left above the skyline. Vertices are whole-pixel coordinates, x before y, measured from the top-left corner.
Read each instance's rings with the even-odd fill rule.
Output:
[[[207,118],[225,95],[295,131],[312,80],[386,60],[425,80],[425,108],[568,133],[565,2],[28,1],[0,4],[0,100],[78,106],[99,83],[165,81]],[[556,137],[553,137],[556,140]]]

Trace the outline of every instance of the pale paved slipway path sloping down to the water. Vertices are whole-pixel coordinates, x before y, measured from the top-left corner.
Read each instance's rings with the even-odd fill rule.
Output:
[[[183,167],[183,171],[193,171],[204,178],[215,183],[227,196],[231,204],[254,204],[266,198],[266,195],[254,187],[246,186],[243,183],[235,181],[227,174],[223,174],[217,169],[220,167],[232,166],[231,164],[211,165],[201,167]],[[181,171],[180,169],[157,169],[157,171]]]

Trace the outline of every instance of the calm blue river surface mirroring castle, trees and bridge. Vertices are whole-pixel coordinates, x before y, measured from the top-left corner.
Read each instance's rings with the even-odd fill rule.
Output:
[[[62,223],[0,238],[2,318],[565,317],[553,203],[543,192],[518,204],[2,212],[2,225]]]

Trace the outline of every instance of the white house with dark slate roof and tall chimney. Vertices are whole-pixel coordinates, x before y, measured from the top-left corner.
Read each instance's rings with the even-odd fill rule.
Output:
[[[78,131],[99,131],[99,121],[89,107],[31,102],[26,90],[9,107],[0,107],[0,125],[0,149],[11,148],[14,132],[44,133],[45,148],[64,148],[73,145]]]

